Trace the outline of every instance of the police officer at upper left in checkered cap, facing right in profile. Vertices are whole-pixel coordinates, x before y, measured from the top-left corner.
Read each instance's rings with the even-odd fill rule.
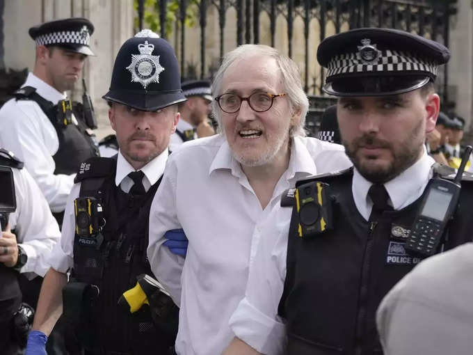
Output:
[[[97,155],[81,115],[73,115],[65,91],[74,88],[87,56],[88,19],[70,18],[31,27],[36,59],[15,98],[0,109],[0,145],[24,161],[53,212],[63,212],[79,163]]]

